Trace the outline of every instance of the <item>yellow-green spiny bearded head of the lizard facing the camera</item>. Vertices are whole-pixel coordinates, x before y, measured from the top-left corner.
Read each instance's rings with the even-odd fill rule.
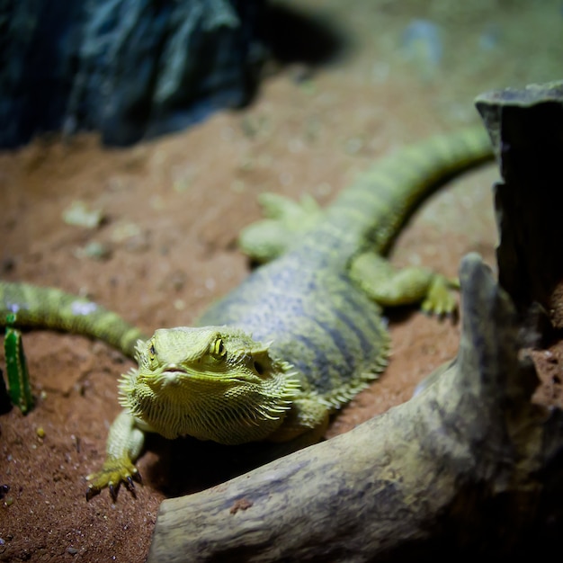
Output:
[[[137,344],[137,362],[120,381],[121,405],[166,438],[262,440],[299,388],[268,344],[228,326],[158,329]]]

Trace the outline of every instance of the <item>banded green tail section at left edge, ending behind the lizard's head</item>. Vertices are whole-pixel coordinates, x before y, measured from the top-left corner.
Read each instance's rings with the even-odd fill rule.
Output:
[[[135,344],[147,336],[116,313],[93,301],[54,288],[0,281],[0,326],[15,313],[16,326],[41,327],[91,336],[134,357]]]

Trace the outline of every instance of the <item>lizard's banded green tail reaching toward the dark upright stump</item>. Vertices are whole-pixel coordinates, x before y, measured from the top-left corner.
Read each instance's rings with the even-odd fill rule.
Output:
[[[368,242],[385,254],[424,197],[451,175],[492,156],[482,126],[435,135],[378,160],[340,193],[327,216],[350,243]]]

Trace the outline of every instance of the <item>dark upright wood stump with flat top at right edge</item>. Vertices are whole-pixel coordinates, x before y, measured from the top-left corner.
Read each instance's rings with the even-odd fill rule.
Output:
[[[499,282],[521,311],[533,301],[550,311],[563,280],[563,82],[482,94],[476,103],[504,179],[495,186]],[[552,313],[555,326],[563,326],[561,314]]]

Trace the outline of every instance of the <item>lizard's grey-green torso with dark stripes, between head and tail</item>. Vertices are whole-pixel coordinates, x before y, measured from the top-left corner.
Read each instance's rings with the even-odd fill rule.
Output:
[[[198,325],[236,326],[299,371],[303,389],[339,407],[385,367],[380,307],[348,277],[339,255],[313,237],[252,273]],[[342,265],[342,264],[340,264]]]

